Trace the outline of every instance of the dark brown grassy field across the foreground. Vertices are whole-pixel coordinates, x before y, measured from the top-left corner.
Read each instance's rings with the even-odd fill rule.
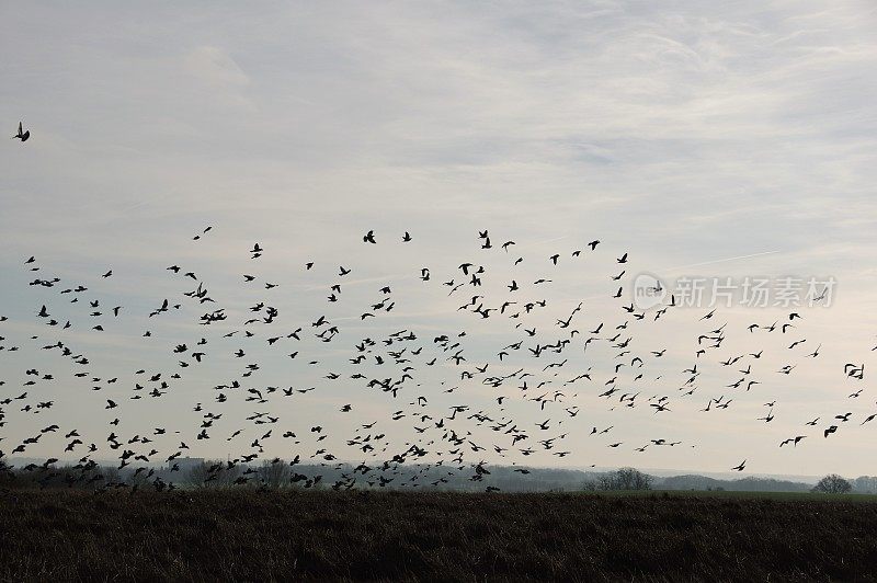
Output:
[[[0,579],[872,580],[859,496],[0,491]]]

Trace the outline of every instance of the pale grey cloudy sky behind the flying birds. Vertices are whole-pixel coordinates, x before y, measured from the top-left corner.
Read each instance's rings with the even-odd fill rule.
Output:
[[[314,453],[329,444],[337,459],[362,461],[345,442],[378,421],[387,450],[368,455],[391,457],[434,439],[428,449],[449,458],[441,428],[413,426],[468,404],[468,414],[483,411],[491,422],[512,419],[529,438],[512,447],[490,423],[454,420],[456,431],[471,431],[486,447],[466,449],[467,462],[727,471],[745,459],[750,473],[877,473],[877,421],[861,425],[877,412],[867,374],[877,345],[872,3],[0,2],[0,119],[10,136],[19,121],[32,134],[24,144],[0,142],[0,316],[8,317],[0,345],[20,347],[0,351],[0,399],[31,393],[3,405],[7,455],[57,423],[60,433],[78,428],[86,444],[99,444],[103,457],[116,454],[104,445],[110,431],[129,437],[167,427],[152,444],[128,446],[139,453],[155,445],[162,461],[178,437],[190,455],[236,457],[273,428],[264,456],[319,459]],[[369,230],[375,245],[362,240]],[[481,249],[485,230],[489,250]],[[412,240],[403,243],[406,231]],[[510,240],[515,245],[503,251]],[[585,247],[592,240],[601,241],[594,251]],[[252,260],[257,242],[265,251]],[[584,251],[573,258],[578,249]],[[548,259],[555,253],[558,265]],[[629,260],[619,264],[624,253]],[[35,262],[25,264],[30,256]],[[515,265],[519,256],[524,262]],[[310,261],[314,268],[305,270]],[[468,281],[464,262],[485,266],[483,286],[448,296],[453,286],[443,282]],[[172,264],[180,274],[166,270]],[[351,274],[339,276],[342,265]],[[101,277],[109,270],[113,275]],[[610,279],[622,270],[617,283]],[[198,285],[182,275],[187,271],[215,305],[182,296]],[[836,285],[829,306],[719,307],[707,320],[709,306],[677,307],[657,321],[653,308],[634,320],[620,305],[631,300],[640,273],[667,286],[680,277],[785,276]],[[246,284],[242,274],[257,278]],[[55,276],[56,287],[29,285]],[[537,278],[551,282],[533,284]],[[512,279],[524,288],[519,299],[547,300],[525,325],[457,309],[472,295],[500,308],[515,299],[505,288]],[[265,289],[265,282],[277,287]],[[78,284],[89,290],[70,305],[72,295],[59,292]],[[342,293],[330,304],[333,284]],[[394,311],[361,320],[385,285]],[[618,285],[626,295],[612,298]],[[150,318],[164,298],[181,309]],[[87,300],[95,299],[101,317],[88,316]],[[254,324],[253,339],[241,339],[249,308],[260,301],[280,310],[270,324],[278,328]],[[536,359],[522,347],[497,359],[519,340],[532,346],[569,338],[556,320],[580,301],[580,335],[563,353]],[[46,327],[36,316],[43,305],[72,327]],[[123,307],[118,318],[107,316],[111,306]],[[228,321],[197,323],[219,308]],[[747,328],[788,322],[790,311],[801,318],[785,334]],[[321,315],[341,329],[331,343],[314,336],[310,324]],[[606,332],[626,320],[618,342],[633,338],[631,354],[619,358]],[[91,330],[96,321],[103,332]],[[601,340],[583,348],[600,322]],[[721,346],[695,356],[698,335],[722,324]],[[298,327],[300,345],[265,342]],[[538,336],[522,332],[529,327]],[[152,336],[143,338],[145,330]],[[234,330],[237,336],[224,338]],[[417,334],[409,350],[423,345],[423,356],[438,361],[413,363],[417,378],[396,399],[364,382],[324,378],[358,370],[349,358],[364,338],[401,330]],[[447,334],[453,344],[464,331],[468,359],[457,366],[447,361],[456,351],[442,352],[433,339]],[[173,347],[186,343],[187,355],[205,335],[205,362],[179,367],[183,357]],[[59,340],[88,353],[90,364],[42,350]],[[817,345],[818,358],[806,357]],[[299,346],[299,358],[286,356]],[[650,356],[663,348],[664,356]],[[246,356],[235,356],[238,350]],[[745,356],[760,350],[761,358]],[[629,359],[637,355],[648,363],[635,380]],[[744,356],[739,367],[721,365],[737,355]],[[521,367],[550,376],[555,369],[543,368],[563,359],[540,392],[521,390],[517,379],[501,388],[481,382]],[[622,359],[627,366],[615,375]],[[489,373],[460,378],[488,362]],[[241,379],[252,363],[261,368],[242,377],[244,388],[216,403],[214,387]],[[847,363],[865,364],[862,380],[844,374]],[[696,391],[685,396],[693,387],[680,390],[690,376],[683,370],[694,364]],[[748,379],[760,385],[729,388],[747,365]],[[778,373],[786,365],[795,369]],[[592,381],[561,387],[589,367]],[[24,386],[34,378],[29,369],[54,379]],[[184,378],[161,398],[132,401],[138,369]],[[88,378],[72,376],[83,370]],[[390,375],[383,370],[363,374]],[[614,376],[618,393],[599,397]],[[317,388],[244,400],[246,388],[269,386]],[[560,402],[527,400],[555,389],[565,393]],[[637,392],[636,407],[618,402]],[[428,405],[417,403],[420,396]],[[662,396],[670,411],[649,407],[657,401],[647,399]],[[699,411],[719,397],[733,403]],[[105,410],[106,399],[119,407]],[[21,411],[47,400],[54,407]],[[192,410],[196,402],[203,411]],[[340,412],[344,404],[352,411]],[[576,416],[565,412],[572,407]],[[771,409],[770,423],[758,421]],[[209,441],[196,441],[207,411],[224,416]],[[391,421],[396,411],[406,416]],[[418,411],[432,419],[421,421]],[[259,412],[281,422],[247,420]],[[833,420],[846,412],[850,422]],[[115,418],[121,425],[106,425]],[[538,428],[546,418],[551,428]],[[816,426],[805,425],[815,418]],[[318,423],[324,442],[310,431]],[[840,430],[825,438],[831,424]],[[607,426],[608,434],[590,435]],[[238,428],[241,436],[228,441]],[[297,437],[280,437],[284,431]],[[537,443],[561,434],[551,450]],[[796,435],[808,437],[778,447]],[[62,437],[49,434],[24,455],[58,457]],[[652,438],[681,444],[635,449]],[[536,451],[521,455],[527,446]]]

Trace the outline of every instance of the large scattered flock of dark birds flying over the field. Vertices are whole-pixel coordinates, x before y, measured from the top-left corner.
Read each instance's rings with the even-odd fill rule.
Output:
[[[20,124],[15,137],[25,141],[30,132],[23,132]],[[215,231],[206,227],[192,237],[191,244],[201,244],[198,241],[210,237],[215,237]],[[369,230],[362,236],[362,244],[409,244],[413,237],[405,231],[392,239],[395,242],[388,243]],[[601,241],[595,239],[581,249],[525,258],[512,253],[515,245],[514,240],[505,240],[494,247],[487,230],[478,232],[472,241],[474,255],[494,254],[493,259],[504,262],[512,275],[488,268],[483,263],[489,262],[476,256],[462,261],[453,273],[440,276],[435,267],[412,267],[412,275],[420,281],[417,285],[444,290],[442,296],[452,302],[448,313],[454,318],[465,317],[470,322],[465,330],[438,332],[432,329],[424,332],[413,327],[388,332],[388,324],[369,330],[371,322],[380,321],[397,309],[397,301],[403,301],[394,292],[395,283],[389,281],[375,284],[373,299],[354,307],[358,315],[355,325],[345,325],[350,319],[333,315],[333,309],[335,305],[345,305],[344,290],[355,268],[353,265],[327,268],[317,260],[300,265],[301,274],[322,275],[328,279],[323,282],[327,295],[323,307],[316,307],[311,318],[289,321],[277,307],[282,304],[283,285],[257,275],[258,268],[241,273],[238,279],[246,293],[253,296],[246,309],[247,317],[240,317],[243,310],[238,306],[220,306],[221,300],[214,297],[216,294],[210,292],[209,283],[203,281],[195,268],[178,264],[169,265],[164,275],[179,286],[179,296],[156,297],[150,310],[134,315],[125,306],[107,304],[99,297],[95,286],[114,277],[112,268],[95,274],[90,281],[69,282],[46,275],[49,268],[31,256],[23,261],[23,268],[31,274],[29,278],[33,277],[29,282],[35,289],[33,321],[45,327],[45,332],[30,335],[25,344],[11,342],[3,331],[9,319],[0,315],[0,358],[4,352],[20,350],[32,350],[41,356],[39,365],[23,371],[22,378],[26,380],[20,386],[0,378],[0,460],[10,459],[8,456],[27,456],[36,444],[45,446],[52,442],[58,446],[57,457],[23,469],[50,469],[59,458],[71,459],[75,460],[73,473],[66,479],[76,483],[95,480],[96,460],[110,456],[117,459],[119,469],[141,473],[155,488],[164,489],[173,488],[173,482],[158,477],[157,467],[167,466],[179,471],[179,460],[187,455],[190,444],[215,451],[210,443],[219,441],[223,447],[231,447],[236,454],[227,461],[213,465],[205,478],[207,481],[228,468],[241,466],[248,469],[238,482],[246,483],[253,479],[250,467],[257,460],[286,465],[285,459],[265,456],[265,449],[276,450],[276,444],[289,451],[291,480],[305,487],[320,483],[320,476],[299,473],[295,471],[297,465],[349,468],[332,484],[335,489],[357,484],[437,487],[452,476],[481,481],[490,473],[485,461],[487,457],[519,466],[536,453],[565,458],[577,449],[591,447],[570,438],[573,426],[579,432],[584,428],[593,444],[611,449],[624,446],[645,453],[658,447],[695,447],[696,443],[669,439],[664,435],[656,435],[647,443],[629,444],[623,436],[618,437],[623,434],[620,427],[595,426],[585,421],[588,414],[583,412],[593,402],[605,402],[619,415],[628,414],[629,410],[645,410],[654,419],[656,415],[680,414],[674,413],[679,411],[674,401],[698,400],[702,393],[708,392],[699,411],[720,414],[719,411],[727,410],[744,395],[753,395],[751,391],[770,384],[771,375],[791,375],[802,359],[820,356],[821,344],[810,351],[804,346],[815,344],[808,339],[786,340],[799,331],[799,321],[804,320],[799,312],[788,312],[785,321],[753,322],[738,330],[728,322],[714,323],[721,313],[710,309],[694,317],[699,332],[691,339],[691,354],[676,355],[690,356],[691,366],[668,375],[663,365],[668,348],[643,345],[649,342],[640,340],[647,338],[643,329],[694,312],[681,309],[672,295],[649,311],[638,309],[629,299],[629,285],[625,294],[627,252],[607,255]],[[240,253],[246,253],[248,261],[258,265],[270,251],[257,242],[252,248],[241,249]],[[617,274],[606,274],[605,288],[600,290],[614,304],[613,311],[602,311],[601,321],[589,321],[588,300],[576,300],[562,315],[547,319],[545,315],[550,313],[549,308],[566,306],[563,302],[555,306],[554,300],[547,299],[547,290],[562,274],[565,264],[582,262],[580,265],[584,265],[590,256],[600,255],[620,270]],[[524,262],[536,263],[545,275],[526,282],[523,276],[514,275]],[[160,367],[152,368],[153,361],[145,359],[143,366],[133,367],[127,376],[109,377],[95,368],[105,354],[89,354],[76,342],[81,339],[77,334],[102,334],[117,329],[116,322],[126,317],[139,318],[133,320],[137,322],[145,318],[149,327],[138,332],[138,342],[151,347],[158,336],[171,333],[153,334],[153,331],[174,312],[190,325],[171,328],[179,336],[161,348],[167,362]],[[82,320],[87,323],[77,323]],[[479,338],[488,320],[502,333]],[[396,321],[389,319],[389,322]],[[448,318],[448,321],[456,320]],[[193,332],[195,330],[197,332]],[[672,331],[668,332],[670,334]],[[722,344],[731,336],[756,345],[758,350],[728,355]],[[472,346],[472,339],[478,346]],[[768,342],[770,339],[774,340]],[[673,342],[681,350],[687,350],[682,339],[674,338]],[[479,348],[486,344],[493,346],[490,356],[483,356]],[[593,357],[597,348],[605,352],[605,358]],[[778,354],[788,364],[765,370],[759,365],[764,362],[766,350],[782,351]],[[288,373],[295,378],[296,374],[289,371],[294,366],[304,366],[319,371],[319,382],[310,387],[283,387],[260,380],[266,366],[254,356],[265,354],[272,355],[272,362],[280,356],[288,363],[281,365],[281,374]],[[65,371],[56,373],[61,363],[66,363]],[[196,384],[202,382],[202,377],[194,373],[219,363],[223,366],[217,370],[229,367],[234,373],[209,388],[209,400],[190,403],[194,414],[187,425],[171,427],[164,420],[155,419],[149,421],[155,427],[148,434],[126,430],[128,423],[143,422],[143,408],[138,403],[184,399],[189,395],[184,390],[186,379],[191,377]],[[714,376],[727,377],[727,382],[717,382],[713,377],[705,380],[707,367],[715,368]],[[2,366],[0,370],[9,373],[10,368]],[[862,381],[864,375],[864,364],[846,363],[843,368],[843,377],[853,382]],[[109,426],[71,426],[64,421],[64,411],[57,412],[53,423],[38,423],[57,411],[59,391],[71,390],[66,385],[58,386],[67,382],[66,378],[87,382],[88,390],[101,395],[101,408],[109,415]],[[858,389],[848,398],[858,398],[862,392],[863,389]],[[331,420],[297,414],[298,400],[319,400],[329,393],[348,397],[351,402],[338,407]],[[203,393],[193,395],[201,397]],[[472,395],[480,398],[469,398]],[[389,403],[392,410],[386,419],[351,424],[348,434],[330,436],[327,426],[344,425],[345,414],[357,412],[364,402],[378,401]],[[515,407],[511,408],[511,403]],[[771,423],[775,419],[776,400],[764,403],[764,415],[753,419],[753,423]],[[247,413],[242,419],[230,419],[243,411]],[[4,434],[10,419],[29,415],[36,425],[45,426],[26,435]],[[800,434],[788,436],[778,447],[806,446],[801,442],[811,436],[804,431],[807,427],[817,427],[820,438],[829,438],[847,424],[865,425],[875,418],[877,412],[858,420],[846,411],[819,411],[813,419],[801,419]],[[674,421],[669,419],[661,426],[672,428],[673,425]],[[397,434],[409,435],[409,438],[390,436]],[[305,443],[310,449],[305,450]],[[5,444],[9,451],[2,450]],[[348,465],[360,459],[355,467]],[[400,483],[400,468],[406,464],[421,470],[408,475],[405,483]],[[745,465],[743,460],[730,469],[743,471]],[[445,477],[434,479],[436,468],[446,471]],[[425,481],[428,470],[430,481]],[[523,466],[516,471],[528,472]]]

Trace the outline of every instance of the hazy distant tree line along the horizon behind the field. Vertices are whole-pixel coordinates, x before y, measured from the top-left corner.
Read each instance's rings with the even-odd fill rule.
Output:
[[[526,472],[524,475],[524,472]],[[614,490],[734,490],[734,491],[797,491],[830,494],[877,494],[877,477],[861,476],[847,480],[839,475],[823,477],[816,485],[767,478],[741,480],[716,480],[703,476],[675,476],[658,478],[636,468],[619,468],[606,472],[581,472],[549,468],[519,468],[512,466],[491,467],[483,482],[475,483],[466,476],[445,477],[433,480],[440,473],[421,466],[399,466],[394,480],[376,481],[364,473],[358,476],[355,488],[411,489],[411,476],[420,475],[424,480],[422,490],[483,491],[486,485],[506,492],[527,491],[614,491]],[[76,466],[57,467],[55,464],[27,464],[12,467],[0,460],[0,487],[3,488],[78,488],[99,490],[112,487],[133,488],[239,488],[243,485],[283,489],[328,487],[344,476],[357,476],[356,468],[342,465],[323,467],[299,465],[295,468],[282,460],[263,460],[259,466],[228,464],[221,460],[204,460],[182,471],[167,468],[123,468],[102,466],[94,461]],[[584,479],[582,479],[584,477]],[[320,479],[322,478],[322,480]],[[433,480],[428,482],[426,479]],[[384,485],[380,485],[384,483]],[[171,485],[173,484],[173,485]]]

